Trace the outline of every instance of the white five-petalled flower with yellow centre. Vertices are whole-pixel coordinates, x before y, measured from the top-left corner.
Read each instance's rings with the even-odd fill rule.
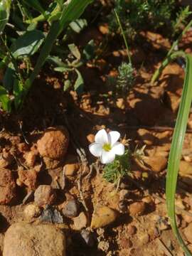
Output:
[[[101,129],[95,135],[95,142],[89,146],[91,154],[100,157],[102,164],[111,163],[116,154],[124,154],[124,145],[117,142],[119,137],[119,132],[112,131],[107,134],[105,129]]]

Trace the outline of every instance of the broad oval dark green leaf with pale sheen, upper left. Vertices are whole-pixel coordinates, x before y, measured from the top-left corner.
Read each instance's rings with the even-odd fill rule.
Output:
[[[27,31],[22,36],[18,37],[11,46],[11,52],[14,58],[23,58],[31,56],[43,43],[44,35],[41,31]]]

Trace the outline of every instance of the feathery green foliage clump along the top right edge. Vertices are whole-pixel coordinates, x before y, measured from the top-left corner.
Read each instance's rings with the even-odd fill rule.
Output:
[[[170,35],[174,36],[191,14],[188,8],[177,11],[176,0],[114,0],[114,6],[122,21],[124,33],[132,39],[144,29],[156,31],[166,28],[166,31],[171,31]],[[108,18],[110,31],[118,33],[119,28],[113,14]]]

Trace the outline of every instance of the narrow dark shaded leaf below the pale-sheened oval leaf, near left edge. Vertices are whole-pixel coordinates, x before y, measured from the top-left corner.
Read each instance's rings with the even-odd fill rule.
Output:
[[[16,78],[16,70],[14,69],[13,63],[9,63],[4,74],[3,84],[7,91],[11,91],[14,87],[14,80]]]

